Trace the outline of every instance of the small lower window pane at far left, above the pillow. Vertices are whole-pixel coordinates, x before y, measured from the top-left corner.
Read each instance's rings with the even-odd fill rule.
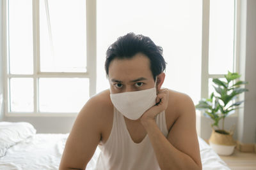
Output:
[[[33,111],[33,78],[10,79],[11,111]]]

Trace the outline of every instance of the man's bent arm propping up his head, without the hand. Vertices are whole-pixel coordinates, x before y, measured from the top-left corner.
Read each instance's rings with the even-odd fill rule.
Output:
[[[160,97],[161,102],[166,102],[163,97],[164,95]],[[195,106],[190,97],[184,94],[178,102],[180,116],[172,126],[168,138],[164,137],[154,120],[144,119],[141,123],[148,133],[161,169],[202,169],[195,128]]]

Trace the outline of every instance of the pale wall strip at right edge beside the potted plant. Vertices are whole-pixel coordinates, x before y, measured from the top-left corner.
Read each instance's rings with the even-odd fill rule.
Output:
[[[247,4],[246,4],[247,3]],[[246,85],[244,108],[238,119],[238,140],[243,143],[256,143],[256,1],[241,1],[241,64]],[[243,25],[246,25],[243,27]]]

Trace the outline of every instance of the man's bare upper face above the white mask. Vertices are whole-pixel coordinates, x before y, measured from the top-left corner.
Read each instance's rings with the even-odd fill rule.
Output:
[[[143,53],[131,59],[113,59],[109,64],[111,94],[150,89],[154,84],[150,60]]]

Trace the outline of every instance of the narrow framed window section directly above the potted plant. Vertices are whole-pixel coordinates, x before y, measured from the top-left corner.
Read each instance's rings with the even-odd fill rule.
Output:
[[[212,78],[224,80],[228,71],[238,72],[236,11],[237,1],[234,0],[204,1],[201,97],[209,97],[214,91]]]

